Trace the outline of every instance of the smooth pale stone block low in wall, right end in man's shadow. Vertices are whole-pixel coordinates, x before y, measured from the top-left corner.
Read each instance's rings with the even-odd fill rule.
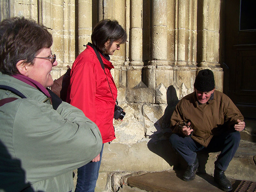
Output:
[[[105,143],[100,172],[170,170],[171,167],[167,163],[170,163],[172,154],[169,141],[151,144],[148,144],[148,141],[150,140],[143,139],[133,144]]]

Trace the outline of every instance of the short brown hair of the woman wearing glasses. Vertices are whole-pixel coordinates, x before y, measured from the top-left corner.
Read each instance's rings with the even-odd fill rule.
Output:
[[[0,23],[0,71],[17,74],[18,61],[25,60],[33,65],[40,50],[51,46],[52,35],[43,25],[24,17],[3,20]]]

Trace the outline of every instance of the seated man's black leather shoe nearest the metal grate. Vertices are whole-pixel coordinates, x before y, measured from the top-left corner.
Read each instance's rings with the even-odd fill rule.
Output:
[[[220,170],[218,167],[214,169],[214,181],[219,184],[223,191],[231,191],[232,185],[225,175],[225,171]]]

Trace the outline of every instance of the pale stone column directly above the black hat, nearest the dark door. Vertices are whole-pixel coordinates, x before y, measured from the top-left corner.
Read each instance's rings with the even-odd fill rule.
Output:
[[[200,47],[197,50],[198,70],[213,70],[216,89],[222,91],[223,71],[219,63],[220,1],[198,1],[197,10],[197,47]]]

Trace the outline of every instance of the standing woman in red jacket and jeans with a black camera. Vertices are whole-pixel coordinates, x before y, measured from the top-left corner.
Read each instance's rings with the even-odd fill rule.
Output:
[[[126,38],[125,30],[116,20],[101,20],[93,29],[92,44],[86,45],[86,49],[78,55],[72,66],[67,100],[97,124],[103,141],[100,154],[90,163],[78,168],[76,192],[94,191],[104,143],[116,138],[113,117],[117,89],[110,73],[114,66],[109,61],[109,55],[119,50]],[[104,67],[93,47],[100,53]]]

